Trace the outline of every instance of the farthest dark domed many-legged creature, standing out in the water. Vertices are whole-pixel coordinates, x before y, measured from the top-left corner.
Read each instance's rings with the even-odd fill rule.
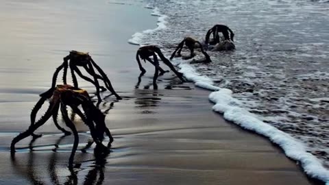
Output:
[[[212,28],[208,30],[206,34],[206,41],[205,41],[206,45],[208,45],[210,34],[212,34],[213,36],[213,40],[212,42],[210,42],[210,45],[216,45],[217,43],[219,43],[220,42],[219,32],[223,34],[225,40],[232,40],[234,42],[233,40],[234,33],[232,29],[230,29],[230,27],[226,25],[214,25]],[[230,35],[228,34],[228,32],[230,32]]]

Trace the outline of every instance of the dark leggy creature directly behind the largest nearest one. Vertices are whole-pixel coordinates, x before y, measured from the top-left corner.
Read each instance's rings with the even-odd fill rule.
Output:
[[[87,71],[87,73],[93,77],[93,79],[90,79],[89,77],[83,75],[77,66],[82,66]],[[97,69],[99,74],[95,72],[94,67],[95,69]],[[75,76],[75,73],[77,73],[77,75],[79,75],[82,79],[85,79],[96,87],[96,95],[98,101],[101,101],[99,90],[105,91],[106,88],[110,90],[112,95],[117,97],[117,99],[121,99],[121,97],[115,92],[110,82],[110,79],[108,79],[108,77],[106,76],[106,73],[104,73],[104,71],[96,64],[96,62],[93,60],[93,58],[91,58],[89,53],[83,53],[80,51],[70,51],[69,55],[64,57],[64,62],[60,66],[58,66],[55,73],[53,73],[53,82],[51,84],[52,88],[55,88],[58,73],[62,69],[64,69],[63,83],[66,84],[66,73],[68,68],[71,69],[73,85],[75,86],[75,88],[78,88],[77,77]],[[98,79],[101,79],[104,82],[106,88],[104,88],[103,86],[99,86]]]

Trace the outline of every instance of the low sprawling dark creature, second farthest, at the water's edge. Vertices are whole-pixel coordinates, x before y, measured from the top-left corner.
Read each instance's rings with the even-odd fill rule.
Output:
[[[208,56],[208,53],[206,53],[206,51],[204,51],[204,49],[202,48],[202,44],[199,41],[197,41],[197,40],[195,40],[191,37],[186,37],[186,38],[184,38],[184,40],[182,40],[182,42],[180,42],[180,44],[175,49],[175,51],[173,51],[173,54],[171,54],[170,60],[172,60],[175,57],[176,52],[177,52],[178,56],[181,56],[181,52],[182,52],[182,49],[184,47],[184,44],[191,51],[191,56],[189,58],[186,58],[186,59],[190,59],[190,58],[193,58],[195,56],[194,49],[197,47],[196,45],[199,45],[199,47],[201,49],[201,52],[206,57],[206,62],[211,62],[210,56]]]

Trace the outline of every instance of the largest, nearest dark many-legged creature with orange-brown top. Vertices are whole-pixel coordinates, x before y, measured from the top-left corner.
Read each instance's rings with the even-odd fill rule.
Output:
[[[33,132],[38,129],[38,127],[45,124],[51,116],[53,116],[53,121],[56,124],[56,127],[67,134],[68,131],[60,127],[57,122],[57,115],[60,110],[66,126],[71,129],[74,135],[73,149],[69,158],[69,167],[73,167],[73,158],[79,143],[79,136],[74,123],[71,119],[69,119],[69,115],[66,110],[67,106],[71,107],[73,112],[79,115],[82,121],[86,123],[97,146],[103,149],[108,149],[101,143],[104,137],[104,132],[110,139],[110,143],[113,141],[110,130],[108,130],[108,127],[106,127],[105,124],[105,115],[93,104],[93,101],[91,101],[86,90],[64,84],[58,85],[56,88],[50,88],[45,93],[42,93],[40,97],[40,100],[36,103],[36,106],[31,113],[31,125],[29,125],[29,128],[25,132],[22,132],[12,140],[12,144],[10,145],[10,151],[12,154],[15,152],[16,143],[24,138],[27,138],[28,136],[34,136],[35,134],[33,134]],[[45,103],[47,99],[50,99],[49,108],[38,121],[34,122],[36,113],[40,110],[42,104]],[[84,113],[78,108],[78,106],[82,106]]]

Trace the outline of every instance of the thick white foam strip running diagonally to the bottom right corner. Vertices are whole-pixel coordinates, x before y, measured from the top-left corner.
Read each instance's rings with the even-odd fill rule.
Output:
[[[178,60],[175,60],[175,62],[178,63]],[[315,156],[306,152],[306,146],[303,143],[278,130],[276,127],[260,121],[255,114],[241,108],[242,103],[232,97],[232,90],[214,86],[209,77],[197,73],[188,62],[178,63],[178,66],[180,67],[180,72],[184,73],[184,77],[195,82],[196,86],[215,91],[209,95],[210,101],[215,103],[212,110],[220,112],[226,120],[232,121],[246,130],[252,130],[266,136],[273,143],[279,145],[284,150],[286,156],[299,161],[306,174],[323,180],[326,182],[326,185],[329,185],[328,169],[325,169]]]

